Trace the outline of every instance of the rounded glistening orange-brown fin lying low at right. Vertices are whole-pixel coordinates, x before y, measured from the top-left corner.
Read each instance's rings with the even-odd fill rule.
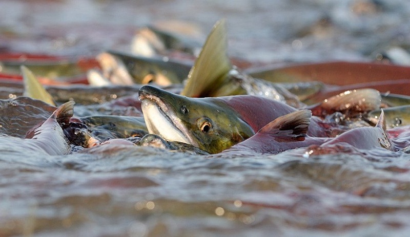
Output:
[[[345,91],[339,95],[325,99],[313,109],[314,115],[331,114],[336,111],[366,112],[378,110],[381,104],[380,92],[374,89],[358,89]]]

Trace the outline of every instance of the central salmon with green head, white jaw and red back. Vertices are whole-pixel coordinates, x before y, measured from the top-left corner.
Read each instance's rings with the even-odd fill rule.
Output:
[[[167,141],[191,144],[210,154],[246,140],[294,107],[254,95],[191,98],[144,85],[139,90],[148,132]],[[318,117],[310,135],[325,137]]]

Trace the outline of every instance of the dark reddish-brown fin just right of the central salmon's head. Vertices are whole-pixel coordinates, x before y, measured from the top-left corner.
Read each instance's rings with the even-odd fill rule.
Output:
[[[311,116],[310,110],[295,111],[278,117],[262,127],[258,133],[270,133],[275,136],[304,136],[308,133]]]

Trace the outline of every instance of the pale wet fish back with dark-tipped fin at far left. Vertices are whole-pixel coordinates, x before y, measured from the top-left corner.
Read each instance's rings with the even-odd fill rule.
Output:
[[[54,155],[67,155],[71,144],[66,138],[63,128],[73,116],[74,101],[60,105],[51,116],[38,127],[28,133],[26,138],[1,136],[3,146],[18,146],[24,153],[36,152]]]

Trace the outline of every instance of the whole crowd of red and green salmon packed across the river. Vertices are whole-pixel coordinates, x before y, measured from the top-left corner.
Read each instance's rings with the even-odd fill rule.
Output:
[[[121,52],[101,53],[96,60],[100,69],[90,70],[90,85],[78,89],[60,85],[44,89],[30,67],[22,66],[22,96],[49,106],[64,103],[45,121],[38,119],[40,125],[27,131],[25,138],[13,137],[3,125],[3,142],[49,155],[87,153],[91,147],[107,145],[153,146],[210,157],[277,154],[301,147],[305,155],[346,149],[409,151],[410,97],[392,90],[409,84],[403,79],[410,78],[410,69],[404,66],[388,69],[395,70],[393,78],[388,74],[361,79],[366,72],[360,68],[367,68],[366,63],[340,62],[339,68],[356,70],[359,80],[334,85],[290,79],[303,67],[332,72],[332,63],[320,69],[307,64],[243,72],[227,56],[223,19],[215,24],[193,64]],[[374,64],[372,71],[385,72],[387,67]],[[119,91],[124,95],[119,96]],[[103,98],[107,93],[111,97]],[[96,111],[87,109],[93,102],[100,104]],[[30,100],[26,104],[31,105]]]

